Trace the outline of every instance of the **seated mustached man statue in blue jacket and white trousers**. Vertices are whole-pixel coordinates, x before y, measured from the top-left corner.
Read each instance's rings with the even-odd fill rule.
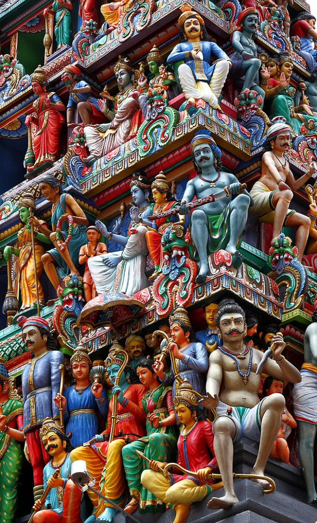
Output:
[[[231,66],[229,56],[214,42],[208,41],[203,18],[190,10],[188,4],[180,7],[178,19],[180,42],[168,56],[167,63],[183,61],[178,77],[186,98],[185,109],[195,107],[202,98],[213,109],[220,109],[218,98]],[[213,65],[210,62],[214,60]]]

